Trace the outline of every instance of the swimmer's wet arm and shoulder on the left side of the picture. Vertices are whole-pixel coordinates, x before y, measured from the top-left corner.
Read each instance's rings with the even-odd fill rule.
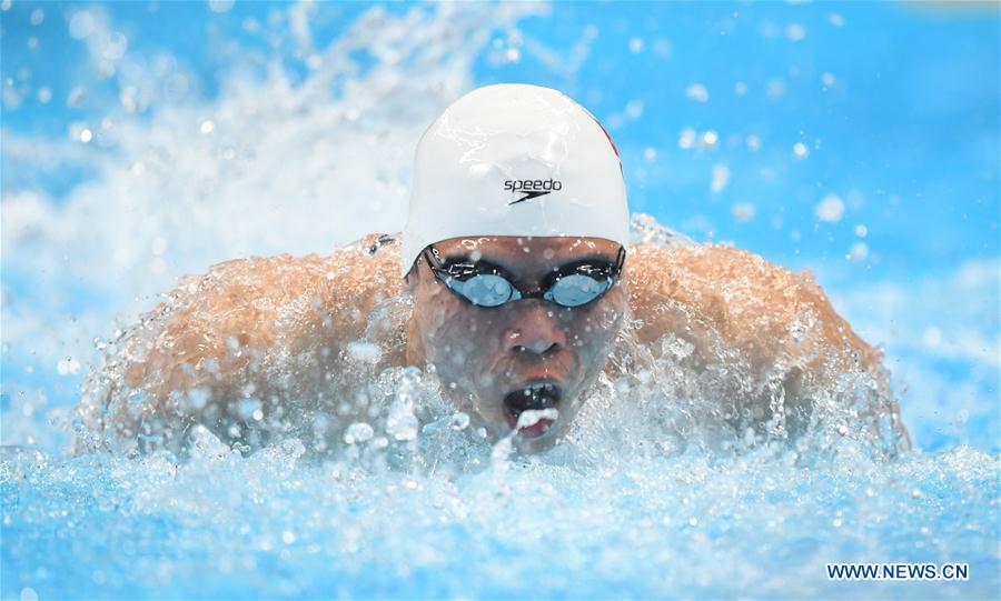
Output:
[[[194,423],[239,438],[240,422],[297,397],[316,401],[368,312],[398,290],[393,253],[368,252],[375,238],[330,257],[241,259],[182,279],[91,375],[79,411],[95,440],[78,447],[163,443]]]

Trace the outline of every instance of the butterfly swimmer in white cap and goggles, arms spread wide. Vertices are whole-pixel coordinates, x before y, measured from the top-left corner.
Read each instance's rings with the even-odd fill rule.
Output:
[[[412,365],[494,440],[541,451],[601,374],[626,369],[609,361],[617,347],[661,352],[668,337],[696,373],[727,349],[717,394],[735,428],[781,417],[794,435],[815,392],[855,370],[881,399],[859,420],[889,420],[893,451],[909,445],[881,353],[809,273],[724,246],[631,243],[618,151],[587,110],[546,88],[480,88],[430,124],[400,236],[229,261],[168,297],[88,387],[79,412],[101,440],[179,443],[201,424],[260,442],[294,431],[296,411],[347,424],[365,417],[350,387],[364,370]]]

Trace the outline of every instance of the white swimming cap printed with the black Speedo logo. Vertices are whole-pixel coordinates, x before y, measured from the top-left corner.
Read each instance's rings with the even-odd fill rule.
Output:
[[[618,151],[586,109],[549,88],[487,86],[445,109],[417,144],[403,273],[449,238],[572,236],[625,246],[628,222]]]

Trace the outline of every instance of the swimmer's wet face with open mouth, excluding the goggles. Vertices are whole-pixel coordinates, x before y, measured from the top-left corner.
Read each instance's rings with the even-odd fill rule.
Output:
[[[443,262],[488,261],[504,269],[525,292],[571,263],[615,264],[620,246],[596,238],[456,238],[434,244]],[[500,307],[472,304],[418,261],[410,287],[414,325],[425,360],[456,405],[478,418],[495,437],[509,433],[525,450],[539,450],[566,431],[581,397],[605,364],[622,327],[628,294],[625,278],[587,304],[573,309],[542,299]],[[526,427],[529,410],[555,409],[555,421]]]

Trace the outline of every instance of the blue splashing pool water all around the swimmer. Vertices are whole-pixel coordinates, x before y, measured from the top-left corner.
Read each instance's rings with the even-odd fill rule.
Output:
[[[0,9],[3,599],[1001,593],[997,6]],[[70,457],[96,337],[215,262],[398,231],[423,128],[497,81],[591,109],[634,211],[810,269],[884,349],[916,451]],[[971,577],[839,583],[834,561]]]

